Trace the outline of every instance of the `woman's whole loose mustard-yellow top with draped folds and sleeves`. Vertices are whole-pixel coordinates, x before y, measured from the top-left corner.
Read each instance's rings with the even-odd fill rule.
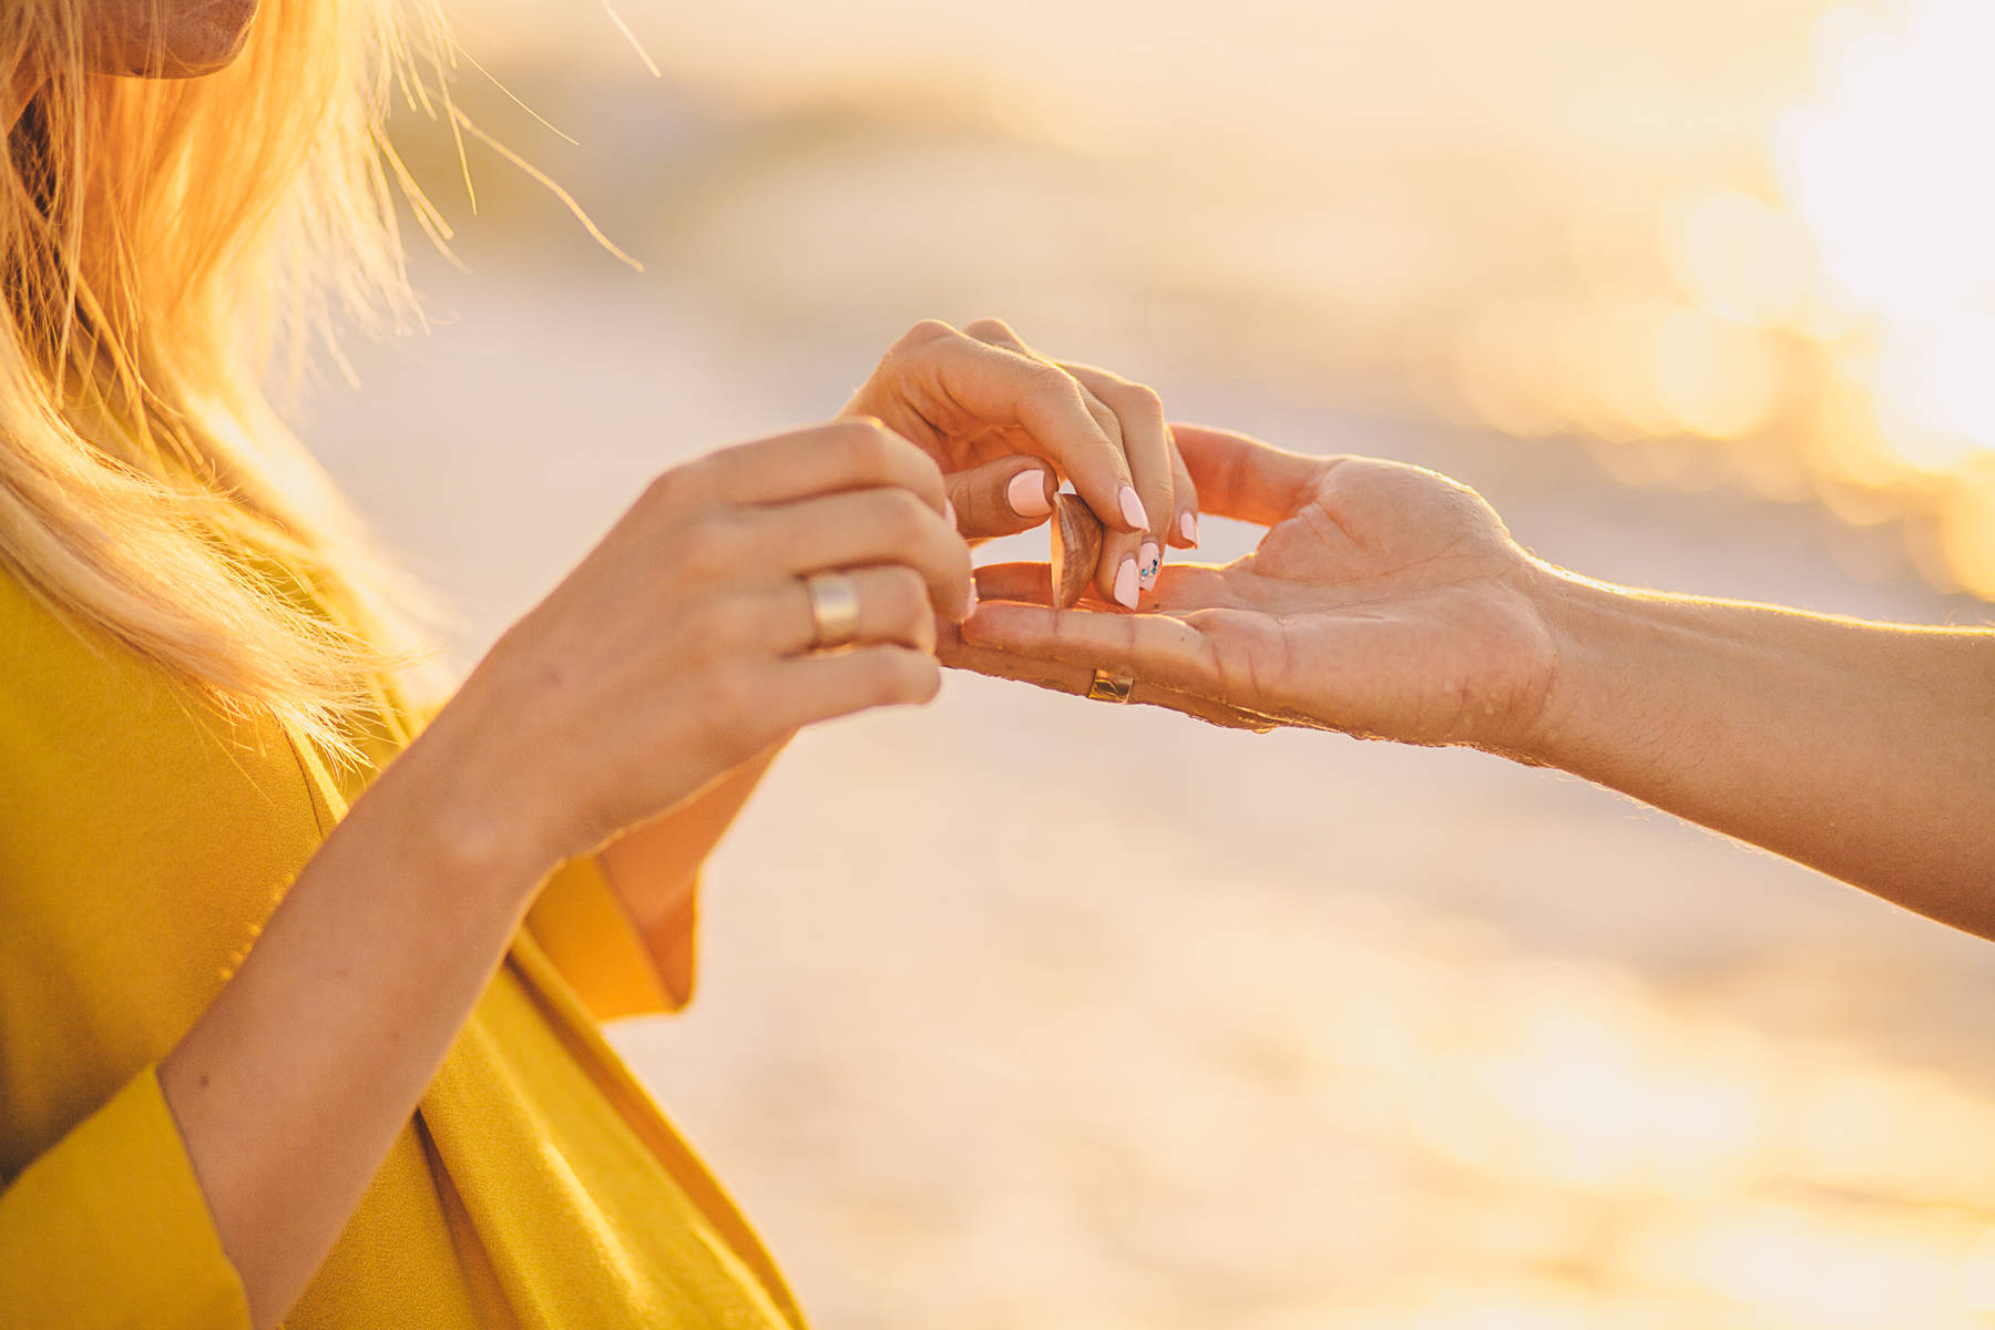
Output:
[[[409,736],[381,716],[371,770]],[[0,574],[0,1326],[249,1324],[156,1065],[371,770]],[[285,1326],[802,1326],[597,1025],[674,1005],[595,861],[563,865]]]

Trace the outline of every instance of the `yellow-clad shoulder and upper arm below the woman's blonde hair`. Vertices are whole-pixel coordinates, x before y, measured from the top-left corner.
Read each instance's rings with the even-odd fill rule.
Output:
[[[325,824],[275,718],[0,570],[0,1174],[174,1045]]]

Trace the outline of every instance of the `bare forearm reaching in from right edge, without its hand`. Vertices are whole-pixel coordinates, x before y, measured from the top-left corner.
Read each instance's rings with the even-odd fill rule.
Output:
[[[1995,937],[1995,632],[1548,576],[1534,762]]]

